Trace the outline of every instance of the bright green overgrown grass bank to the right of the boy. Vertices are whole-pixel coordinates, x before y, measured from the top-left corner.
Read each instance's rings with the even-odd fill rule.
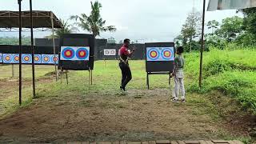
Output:
[[[232,49],[232,50],[229,50]],[[202,88],[198,82],[188,84],[187,90],[208,93],[218,90],[238,100],[245,110],[256,114],[256,50],[211,49],[203,57]],[[198,78],[198,53],[186,55],[186,73]]]

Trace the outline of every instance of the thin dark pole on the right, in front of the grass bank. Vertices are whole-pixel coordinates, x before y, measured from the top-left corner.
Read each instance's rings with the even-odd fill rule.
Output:
[[[206,15],[206,0],[203,0],[202,9],[202,38],[201,38],[201,50],[200,50],[200,72],[199,72],[199,87],[202,87],[202,53],[204,50],[204,30],[205,30],[205,15]]]

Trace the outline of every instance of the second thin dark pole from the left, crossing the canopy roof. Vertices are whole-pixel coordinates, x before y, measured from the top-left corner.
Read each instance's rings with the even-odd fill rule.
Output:
[[[31,24],[31,50],[32,50],[32,82],[33,82],[33,97],[35,97],[35,82],[34,82],[34,35],[33,35],[33,17],[32,17],[32,0],[30,0],[30,24]]]

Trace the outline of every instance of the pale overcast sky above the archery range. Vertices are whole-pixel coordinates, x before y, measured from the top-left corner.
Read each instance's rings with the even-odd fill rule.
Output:
[[[102,33],[100,38],[114,37],[117,42],[123,38],[144,41],[170,42],[180,34],[182,24],[193,6],[202,10],[202,0],[98,0],[102,3],[102,18],[106,25],[114,25],[114,33]],[[208,3],[208,0],[206,0]],[[207,4],[206,4],[207,5]],[[70,15],[89,14],[90,0],[33,0],[34,10],[51,10],[58,18]],[[18,10],[17,0],[0,0],[0,10]],[[29,0],[22,0],[22,10],[29,10]],[[235,10],[206,12],[206,22],[231,17]],[[86,33],[80,31],[79,33]],[[42,38],[46,32],[36,33]],[[18,33],[11,33],[17,35]],[[25,34],[25,35],[29,35]],[[10,34],[0,33],[0,36]]]

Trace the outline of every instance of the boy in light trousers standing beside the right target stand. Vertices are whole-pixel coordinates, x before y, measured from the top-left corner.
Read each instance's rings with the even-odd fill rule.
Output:
[[[174,77],[174,90],[173,90],[173,102],[178,102],[178,93],[179,90],[182,93],[182,102],[185,102],[185,87],[184,87],[184,74],[183,74],[183,66],[184,66],[184,58],[182,56],[183,47],[179,46],[176,50],[178,57],[174,59],[174,70],[173,70],[173,77]]]

